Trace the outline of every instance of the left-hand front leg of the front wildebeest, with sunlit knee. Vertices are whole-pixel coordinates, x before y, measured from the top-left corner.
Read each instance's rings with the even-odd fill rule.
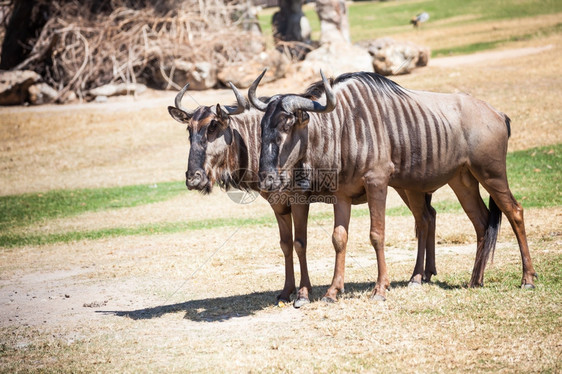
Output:
[[[332,284],[322,298],[325,302],[335,302],[338,291],[344,291],[345,250],[347,247],[349,218],[351,216],[351,200],[342,196],[336,196],[336,199],[337,201],[334,204],[334,232],[332,234],[332,243],[336,251],[336,264]]]

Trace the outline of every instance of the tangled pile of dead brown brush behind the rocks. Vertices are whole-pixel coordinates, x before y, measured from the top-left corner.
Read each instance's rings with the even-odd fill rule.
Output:
[[[147,1],[133,7],[112,0],[96,9],[98,3],[49,2],[49,19],[15,70],[41,74],[60,102],[70,91],[84,98],[87,90],[110,83],[141,81],[179,89],[184,82],[171,78],[178,60],[221,68],[253,56],[244,35],[249,32],[239,27],[245,2]]]

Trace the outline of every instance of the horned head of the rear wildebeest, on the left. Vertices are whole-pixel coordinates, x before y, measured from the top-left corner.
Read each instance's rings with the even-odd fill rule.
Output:
[[[242,113],[248,104],[236,86],[234,91],[237,106],[200,106],[189,111],[181,106],[181,99],[189,87],[186,84],[175,99],[175,107],[168,112],[176,121],[186,124],[189,131],[189,160],[185,173],[187,188],[210,193],[217,180],[216,169],[226,162],[227,148],[232,144],[234,134],[230,128],[230,116]]]

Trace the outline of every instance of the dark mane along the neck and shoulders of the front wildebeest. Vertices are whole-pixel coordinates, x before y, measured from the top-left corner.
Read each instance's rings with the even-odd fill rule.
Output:
[[[377,73],[358,72],[358,73],[345,73],[338,76],[336,79],[330,78],[330,85],[336,87],[338,84],[346,82],[350,79],[363,81],[366,84],[373,85],[381,93],[388,95],[404,96],[407,90],[400,86],[398,83]],[[312,83],[302,94],[303,97],[311,100],[316,100],[324,94],[324,84],[322,81]]]

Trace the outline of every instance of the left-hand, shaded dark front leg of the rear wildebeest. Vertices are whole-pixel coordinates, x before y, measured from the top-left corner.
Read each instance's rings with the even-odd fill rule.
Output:
[[[275,209],[274,209],[275,210]],[[283,212],[285,213],[285,212]],[[278,302],[289,303],[291,294],[295,292],[295,269],[293,268],[293,232],[291,213],[275,212],[277,225],[279,226],[279,244],[285,256],[285,286],[283,291],[277,296]]]

